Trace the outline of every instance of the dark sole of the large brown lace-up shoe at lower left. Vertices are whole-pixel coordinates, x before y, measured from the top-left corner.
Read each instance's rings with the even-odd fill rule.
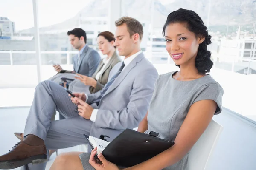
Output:
[[[19,161],[0,161],[0,169],[10,170],[30,163],[41,164],[44,162],[47,162],[47,155],[36,155]]]

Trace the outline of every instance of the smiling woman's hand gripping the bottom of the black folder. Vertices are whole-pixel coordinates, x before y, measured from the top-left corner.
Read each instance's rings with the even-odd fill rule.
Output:
[[[96,169],[96,170],[121,170],[119,167],[116,166],[116,164],[111,163],[110,161],[107,161],[105,157],[100,153],[98,155],[99,160],[102,162],[102,164],[99,164],[94,159],[94,156],[97,153],[97,147],[95,147],[90,155],[89,163]]]

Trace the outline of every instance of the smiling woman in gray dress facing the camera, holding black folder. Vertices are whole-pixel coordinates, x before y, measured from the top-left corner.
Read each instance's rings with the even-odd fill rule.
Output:
[[[155,83],[148,113],[138,131],[159,133],[175,145],[143,163],[125,170],[186,170],[189,151],[212,120],[221,113],[223,89],[209,74],[211,36],[194,11],[179,9],[167,17],[163,27],[166,50],[180,70],[160,75]],[[120,170],[102,154],[98,164],[91,153],[58,156],[51,170]]]

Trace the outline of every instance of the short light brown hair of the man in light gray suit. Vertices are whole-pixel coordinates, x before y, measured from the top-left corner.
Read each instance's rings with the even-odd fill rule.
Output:
[[[116,26],[121,26],[123,24],[126,24],[130,37],[138,33],[140,35],[140,40],[142,40],[143,26],[138,20],[131,17],[122,17],[116,20],[115,24]]]

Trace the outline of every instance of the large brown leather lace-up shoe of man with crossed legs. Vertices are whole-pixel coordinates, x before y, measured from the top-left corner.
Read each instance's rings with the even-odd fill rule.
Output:
[[[9,153],[0,156],[0,169],[9,170],[29,163],[39,164],[46,161],[45,145],[31,146],[20,141],[12,147]]]

